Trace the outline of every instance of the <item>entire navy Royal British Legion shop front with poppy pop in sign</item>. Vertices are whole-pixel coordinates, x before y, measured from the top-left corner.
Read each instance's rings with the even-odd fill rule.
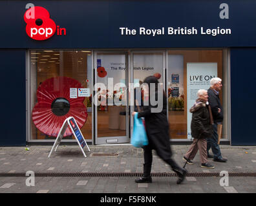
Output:
[[[158,77],[167,95],[171,142],[191,141],[189,108],[197,90],[208,89],[209,80],[220,77],[221,142],[256,144],[253,112],[241,111],[239,103],[250,99],[245,109],[255,100],[256,28],[246,33],[243,22],[256,18],[244,12],[241,20],[241,4],[1,2],[3,11],[13,8],[8,10],[10,24],[1,18],[6,28],[0,34],[1,85],[9,102],[1,103],[1,145],[54,142],[67,117],[76,119],[87,142],[129,143],[131,113],[140,106],[134,104],[134,93],[149,75]],[[246,10],[253,8],[255,3],[248,1]],[[64,142],[76,142],[69,129],[64,136]]]

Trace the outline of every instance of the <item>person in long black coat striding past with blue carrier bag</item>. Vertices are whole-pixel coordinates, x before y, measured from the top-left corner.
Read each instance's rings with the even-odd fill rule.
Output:
[[[143,110],[138,113],[138,118],[145,118],[145,131],[149,144],[144,146],[144,174],[135,180],[136,183],[151,183],[151,165],[152,150],[155,149],[156,154],[171,166],[178,176],[177,183],[184,181],[186,169],[183,169],[175,160],[171,158],[172,152],[169,142],[169,124],[167,121],[167,97],[162,88],[158,89],[158,79],[154,76],[145,78],[144,89],[144,106]],[[146,87],[145,87],[146,85]],[[153,87],[155,86],[155,89]],[[153,102],[156,100],[158,104]],[[148,104],[147,104],[148,103]],[[155,106],[154,106],[155,105]],[[133,112],[134,116],[135,112]]]

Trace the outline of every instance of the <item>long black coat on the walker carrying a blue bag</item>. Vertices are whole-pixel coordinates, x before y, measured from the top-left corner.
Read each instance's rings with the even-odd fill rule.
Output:
[[[157,94],[156,94],[157,97]],[[157,99],[157,98],[156,98]],[[159,113],[152,113],[151,109],[157,106],[144,106],[143,111],[138,113],[138,118],[145,118],[145,130],[149,144],[145,147],[155,149],[156,153],[163,159],[171,158],[171,147],[169,140],[169,124],[167,121],[167,99],[163,94],[163,109]]]

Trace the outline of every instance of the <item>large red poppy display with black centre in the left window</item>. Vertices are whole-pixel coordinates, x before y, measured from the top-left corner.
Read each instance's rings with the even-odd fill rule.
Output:
[[[70,88],[83,88],[76,79],[53,77],[45,80],[36,92],[37,104],[32,110],[32,120],[42,133],[58,136],[66,118],[74,117],[78,127],[87,120],[87,109],[83,105],[85,97],[70,98]],[[72,134],[69,127],[63,136]]]

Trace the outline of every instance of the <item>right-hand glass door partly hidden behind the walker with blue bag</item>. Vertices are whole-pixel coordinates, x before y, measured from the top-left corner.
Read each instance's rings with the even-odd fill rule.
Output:
[[[145,77],[155,75],[165,89],[165,52],[164,51],[134,51],[131,52],[131,82],[134,88],[140,87]],[[136,95],[138,92],[136,92]],[[142,95],[143,96],[143,95]],[[136,99],[137,97],[135,97]],[[141,97],[143,98],[143,97]],[[140,98],[139,98],[140,99]],[[142,101],[143,102],[143,99]],[[140,103],[139,102],[139,106]],[[135,103],[133,104],[135,105]],[[131,106],[131,112],[138,107]],[[133,117],[131,117],[131,134],[133,133]]]

